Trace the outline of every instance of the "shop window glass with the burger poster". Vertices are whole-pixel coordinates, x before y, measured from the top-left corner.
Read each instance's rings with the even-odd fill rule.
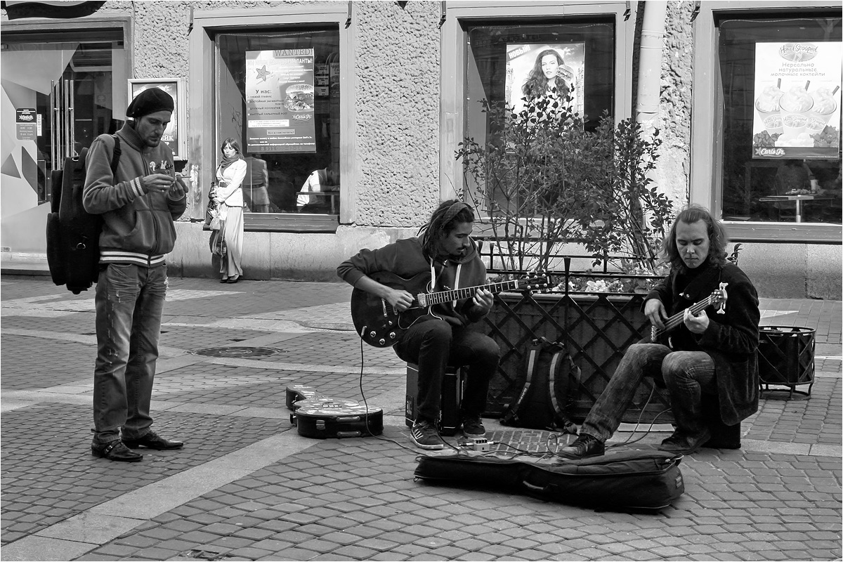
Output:
[[[338,215],[338,27],[220,33],[215,40],[215,158],[224,139],[240,139],[245,211]]]

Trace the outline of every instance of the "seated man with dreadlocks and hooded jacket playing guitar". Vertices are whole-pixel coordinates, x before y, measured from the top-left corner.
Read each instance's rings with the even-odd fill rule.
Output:
[[[444,201],[417,238],[405,238],[380,249],[362,249],[342,262],[336,273],[356,289],[389,302],[397,311],[413,306],[406,289],[387,286],[373,276],[385,272],[400,278],[421,278],[431,291],[452,291],[486,283],[486,266],[477,254],[471,231],[474,211],[462,201]],[[448,365],[469,367],[460,420],[465,436],[486,435],[481,414],[486,409],[489,381],[501,351],[489,336],[469,328],[491,309],[492,293],[478,288],[466,298],[431,306],[395,342],[401,360],[418,365],[418,408],[411,437],[417,447],[442,449],[438,418],[442,381]]]

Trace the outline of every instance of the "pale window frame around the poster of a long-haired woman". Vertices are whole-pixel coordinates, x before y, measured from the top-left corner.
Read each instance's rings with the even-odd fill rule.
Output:
[[[541,24],[549,16],[610,16],[615,18],[615,121],[632,115],[632,54],[636,9],[629,2],[564,3],[537,0],[442,3],[439,95],[439,196],[444,201],[464,187],[462,165],[454,158],[465,135],[466,72],[469,54],[465,27],[478,24]],[[533,20],[533,21],[531,21]]]

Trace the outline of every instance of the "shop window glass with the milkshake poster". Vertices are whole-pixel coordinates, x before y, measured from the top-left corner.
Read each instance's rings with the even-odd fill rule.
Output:
[[[839,10],[776,16],[718,25],[722,216],[840,224]]]

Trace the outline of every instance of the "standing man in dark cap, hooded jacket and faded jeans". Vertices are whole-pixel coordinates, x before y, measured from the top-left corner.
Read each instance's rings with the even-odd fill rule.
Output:
[[[96,288],[97,360],[94,365],[94,441],[91,453],[133,463],[132,448],[179,449],[150,426],[155,361],[167,292],[164,254],[175,245],[173,221],[185,212],[185,185],[175,177],[173,152],[161,142],[173,98],[160,88],[137,95],[119,137],[100,135],[86,162],[83,204],[103,217]]]

